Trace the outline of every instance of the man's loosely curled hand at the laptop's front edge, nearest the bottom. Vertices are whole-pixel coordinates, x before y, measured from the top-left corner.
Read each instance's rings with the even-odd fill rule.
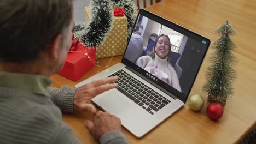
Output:
[[[94,122],[86,120],[84,124],[85,127],[89,130],[90,134],[97,141],[99,141],[101,136],[108,131],[121,131],[120,118],[111,115],[109,112],[98,111],[94,117]]]

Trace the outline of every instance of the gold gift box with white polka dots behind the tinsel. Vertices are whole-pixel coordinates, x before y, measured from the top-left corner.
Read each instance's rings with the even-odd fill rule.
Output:
[[[90,21],[90,7],[85,7],[85,25]],[[87,22],[87,23],[86,23]],[[127,43],[127,18],[114,16],[113,27],[106,40],[96,47],[96,58],[123,55]]]

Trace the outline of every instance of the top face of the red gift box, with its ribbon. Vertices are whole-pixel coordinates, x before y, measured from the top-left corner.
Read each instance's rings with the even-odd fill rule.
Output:
[[[82,43],[79,43],[77,45],[77,49],[75,51],[69,52],[65,61],[65,64],[69,67],[74,68],[75,63],[79,62],[83,58],[88,58],[88,56],[91,55],[91,52],[93,52],[93,48],[88,48],[84,46]],[[87,55],[86,55],[87,53]]]

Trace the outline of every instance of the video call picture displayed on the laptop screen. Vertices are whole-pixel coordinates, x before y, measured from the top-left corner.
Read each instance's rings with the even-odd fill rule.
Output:
[[[159,37],[162,34],[165,36]],[[206,49],[202,41],[138,15],[124,57],[156,81],[188,95]]]

